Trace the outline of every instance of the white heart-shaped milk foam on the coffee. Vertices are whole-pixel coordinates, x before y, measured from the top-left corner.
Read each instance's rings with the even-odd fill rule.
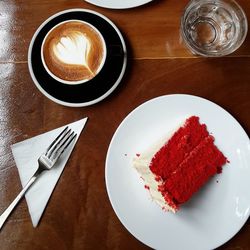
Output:
[[[88,53],[91,43],[81,32],[61,37],[53,46],[55,56],[63,63],[88,67]]]

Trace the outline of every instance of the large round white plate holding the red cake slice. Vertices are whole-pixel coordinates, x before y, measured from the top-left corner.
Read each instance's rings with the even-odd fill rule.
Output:
[[[197,115],[230,163],[177,214],[150,199],[132,158],[187,115]],[[218,105],[189,95],[150,100],[121,123],[110,143],[105,170],[113,209],[138,240],[154,249],[214,249],[231,239],[250,213],[250,142],[240,124]]]

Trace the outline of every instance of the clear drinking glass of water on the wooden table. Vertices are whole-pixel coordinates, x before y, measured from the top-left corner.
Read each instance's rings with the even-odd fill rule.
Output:
[[[189,49],[207,57],[238,49],[247,35],[247,18],[234,0],[192,0],[181,19],[181,34]]]

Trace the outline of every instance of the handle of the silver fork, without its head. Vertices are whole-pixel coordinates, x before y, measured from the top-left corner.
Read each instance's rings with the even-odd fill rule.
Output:
[[[32,186],[32,184],[34,183],[34,181],[36,180],[36,178],[39,176],[40,173],[41,173],[41,170],[38,169],[35,172],[35,174],[30,178],[30,180],[28,181],[28,183],[24,186],[24,188],[22,189],[22,191],[17,195],[17,197],[15,198],[15,200],[13,200],[11,202],[11,204],[1,214],[1,216],[0,216],[0,230],[3,227],[3,224],[5,223],[5,221],[7,220],[7,218],[9,217],[9,215],[11,214],[11,212],[13,211],[13,209],[16,207],[16,205],[19,203],[19,201],[23,198],[23,196],[25,195],[25,193]]]

